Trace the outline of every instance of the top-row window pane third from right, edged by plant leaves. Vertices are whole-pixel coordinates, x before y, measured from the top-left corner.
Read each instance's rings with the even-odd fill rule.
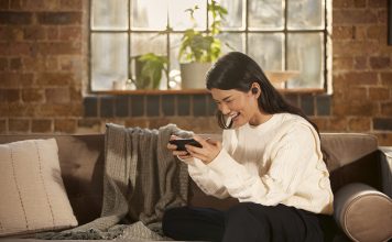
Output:
[[[244,30],[244,14],[242,0],[218,0],[227,9],[228,14],[222,21],[225,30]]]

